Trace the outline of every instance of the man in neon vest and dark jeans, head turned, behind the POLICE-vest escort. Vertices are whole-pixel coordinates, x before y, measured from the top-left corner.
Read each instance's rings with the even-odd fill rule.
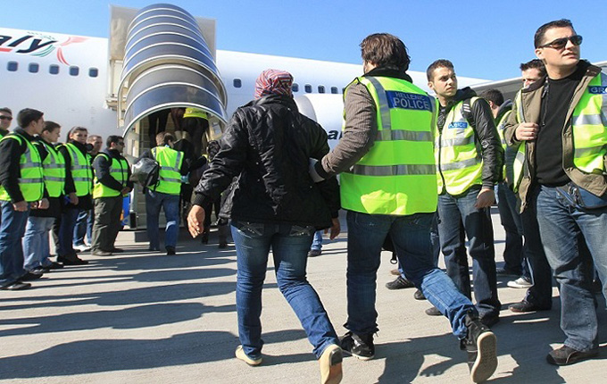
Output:
[[[489,105],[470,88],[457,89],[453,63],[428,66],[428,87],[437,93],[435,157],[438,181],[438,237],[447,274],[471,298],[464,238],[469,238],[474,297],[480,320],[499,321],[495,247],[490,207],[502,178],[503,147]],[[436,314],[430,308],[426,313]]]

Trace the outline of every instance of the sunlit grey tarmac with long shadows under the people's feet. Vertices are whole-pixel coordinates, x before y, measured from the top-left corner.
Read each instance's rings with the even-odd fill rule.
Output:
[[[498,266],[503,228],[493,215]],[[345,225],[343,226],[343,228]],[[123,254],[47,273],[33,288],[0,292],[0,382],[2,383],[318,383],[318,363],[295,314],[276,285],[273,264],[263,290],[263,363],[247,366],[234,357],[238,343],[235,305],[236,252],[186,238],[178,255],[147,251],[132,232],[121,232]],[[394,280],[390,254],[378,271],[376,356],[364,362],[345,355],[343,383],[469,383],[466,354],[443,316],[424,313],[427,301],[415,289],[388,290]],[[442,259],[442,257],[441,257]],[[441,262],[442,263],[442,262]],[[346,233],[325,240],[322,255],[310,258],[308,278],[342,335],[346,319]],[[487,382],[605,382],[607,314],[599,301],[600,355],[556,367],[545,355],[561,346],[560,305],[516,314],[508,305],[524,289],[498,277],[501,321],[493,330],[499,365]]]

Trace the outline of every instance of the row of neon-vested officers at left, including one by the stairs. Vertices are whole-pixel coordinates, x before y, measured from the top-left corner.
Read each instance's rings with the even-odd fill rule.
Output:
[[[129,213],[125,198],[133,189],[124,139],[88,136],[74,127],[60,144],[62,127],[45,121],[44,113],[23,109],[18,127],[9,132],[12,111],[0,108],[0,289],[30,288],[29,281],[64,265],[87,264],[78,252],[110,256]],[[167,216],[165,248],[175,255],[179,226],[179,195],[188,168],[184,154],[172,148],[169,132],[157,135],[144,156],[159,164],[158,182],[146,188],[150,249],[160,250],[158,216]],[[143,156],[142,156],[143,157]],[[128,201],[127,201],[128,203]],[[52,261],[50,239],[56,261]],[[87,244],[87,240],[89,244]]]

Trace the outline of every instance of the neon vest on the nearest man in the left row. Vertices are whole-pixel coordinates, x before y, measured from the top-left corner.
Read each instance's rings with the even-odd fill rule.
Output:
[[[35,146],[33,146],[27,138],[22,137],[18,133],[10,133],[2,140],[17,140],[22,146],[26,144],[26,149],[19,159],[20,178],[19,189],[23,199],[29,203],[38,201],[44,195],[45,182],[43,179],[42,163],[40,162],[40,154]],[[11,196],[4,187],[0,186],[0,200],[11,201]]]

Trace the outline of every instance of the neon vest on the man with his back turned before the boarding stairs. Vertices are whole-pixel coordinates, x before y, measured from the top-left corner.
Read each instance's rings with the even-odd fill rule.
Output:
[[[183,154],[168,146],[154,146],[152,148],[154,160],[160,165],[158,184],[150,187],[156,192],[169,195],[179,195],[181,191],[181,163]]]

